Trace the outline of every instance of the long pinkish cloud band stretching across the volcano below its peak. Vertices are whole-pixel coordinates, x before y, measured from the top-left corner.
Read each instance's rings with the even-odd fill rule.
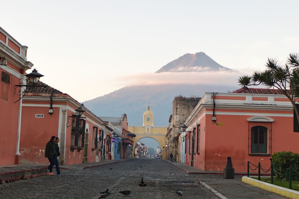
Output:
[[[161,72],[139,73],[116,78],[118,84],[159,85],[159,84],[203,84],[203,85],[238,85],[241,75],[248,75],[243,71],[210,71],[210,72]]]

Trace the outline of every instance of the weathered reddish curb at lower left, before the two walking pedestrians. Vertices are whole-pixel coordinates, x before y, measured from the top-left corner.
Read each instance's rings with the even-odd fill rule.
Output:
[[[0,173],[0,184],[17,181],[19,179],[37,178],[43,175],[48,175],[48,166],[36,169],[24,169],[19,171],[9,171]]]

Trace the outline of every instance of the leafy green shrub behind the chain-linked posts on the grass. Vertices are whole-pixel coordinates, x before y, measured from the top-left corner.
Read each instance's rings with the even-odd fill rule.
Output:
[[[292,179],[299,180],[299,153],[290,151],[276,152],[272,155],[273,171],[277,178],[289,180],[289,168],[294,168]]]

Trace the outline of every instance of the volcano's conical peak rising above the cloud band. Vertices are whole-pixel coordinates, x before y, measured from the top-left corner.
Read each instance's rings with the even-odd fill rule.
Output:
[[[160,68],[156,72],[201,72],[231,70],[223,67],[206,55],[204,52],[190,54],[187,53]]]

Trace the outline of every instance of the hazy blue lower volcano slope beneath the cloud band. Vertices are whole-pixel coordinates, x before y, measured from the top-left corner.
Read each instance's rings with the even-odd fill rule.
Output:
[[[172,101],[177,95],[196,95],[202,97],[207,92],[227,92],[237,87],[201,85],[150,85],[130,86],[113,91],[107,95],[85,101],[84,106],[98,116],[128,116],[129,125],[142,125],[142,115],[148,103],[154,113],[155,126],[167,126],[172,112]]]

